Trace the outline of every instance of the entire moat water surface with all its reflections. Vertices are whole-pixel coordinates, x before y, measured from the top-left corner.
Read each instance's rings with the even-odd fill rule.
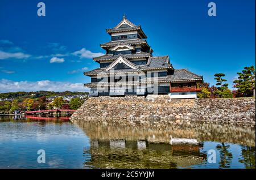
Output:
[[[255,168],[255,126],[0,117],[0,168]]]

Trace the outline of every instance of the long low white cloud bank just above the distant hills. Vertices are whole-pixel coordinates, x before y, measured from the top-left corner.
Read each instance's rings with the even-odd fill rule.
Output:
[[[40,80],[38,82],[14,82],[12,80],[0,80],[0,92],[17,92],[17,91],[89,91],[82,83],[54,82],[50,80]]]

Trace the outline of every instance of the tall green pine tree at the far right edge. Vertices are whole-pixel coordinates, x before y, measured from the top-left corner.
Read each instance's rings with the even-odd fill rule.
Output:
[[[255,96],[255,68],[254,66],[244,67],[242,72],[237,72],[238,79],[234,80],[234,88],[243,96]]]

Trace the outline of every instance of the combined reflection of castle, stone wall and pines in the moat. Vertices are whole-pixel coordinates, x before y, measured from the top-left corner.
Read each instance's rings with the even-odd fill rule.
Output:
[[[90,149],[84,151],[85,155],[91,156],[84,164],[88,168],[195,167],[208,163],[205,142],[218,143],[214,146],[220,154],[217,157],[218,168],[229,168],[232,164],[229,143],[242,145],[245,147],[241,150],[243,152],[250,148],[249,161],[252,162],[247,164],[250,164],[249,168],[255,168],[253,126],[183,123],[176,126],[138,127],[88,122],[76,122],[76,125],[90,138]]]

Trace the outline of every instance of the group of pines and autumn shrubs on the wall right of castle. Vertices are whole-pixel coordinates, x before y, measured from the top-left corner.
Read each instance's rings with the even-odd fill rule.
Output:
[[[231,91],[228,88],[225,74],[214,74],[216,85],[210,86],[210,83],[200,84],[201,92],[197,94],[199,98],[230,98],[230,97],[251,97],[255,96],[255,68],[254,66],[244,67],[242,72],[237,72],[237,79],[234,80]]]

